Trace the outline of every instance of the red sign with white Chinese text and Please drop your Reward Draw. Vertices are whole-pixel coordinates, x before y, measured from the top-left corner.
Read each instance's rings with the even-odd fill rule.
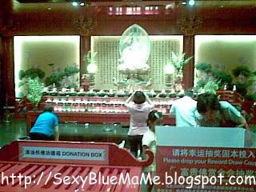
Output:
[[[255,191],[256,150],[158,146],[158,191]]]

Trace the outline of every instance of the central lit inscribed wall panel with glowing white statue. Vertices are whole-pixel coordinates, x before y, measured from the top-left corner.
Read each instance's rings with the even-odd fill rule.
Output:
[[[130,79],[138,83],[150,82],[148,89],[166,89],[165,67],[170,62],[172,51],[182,52],[182,35],[149,35],[138,30],[138,25],[128,27],[123,36],[92,36],[91,50],[98,52],[95,58],[97,72],[95,89],[109,90],[123,88]],[[134,35],[135,33],[135,35]],[[132,35],[129,35],[132,34]],[[141,35],[136,46],[134,41]],[[142,50],[139,51],[139,50]],[[141,58],[138,58],[142,56]],[[131,82],[131,83],[137,83]]]

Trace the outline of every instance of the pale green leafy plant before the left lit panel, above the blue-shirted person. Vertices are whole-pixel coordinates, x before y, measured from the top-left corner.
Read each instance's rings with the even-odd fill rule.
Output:
[[[28,79],[28,94],[26,98],[33,104],[33,106],[38,106],[38,103],[42,99],[43,83],[39,81],[39,78],[29,78]]]

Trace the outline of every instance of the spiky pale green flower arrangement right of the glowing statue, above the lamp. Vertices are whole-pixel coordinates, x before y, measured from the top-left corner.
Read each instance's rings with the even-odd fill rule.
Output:
[[[170,55],[170,63],[174,66],[175,70],[182,71],[183,66],[186,65],[186,63],[190,62],[194,56],[191,56],[190,58],[185,59],[186,53],[182,54],[175,54],[174,51],[171,52]]]

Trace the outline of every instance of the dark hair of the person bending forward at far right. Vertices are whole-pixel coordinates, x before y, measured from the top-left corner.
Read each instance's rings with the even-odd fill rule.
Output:
[[[216,94],[199,94],[197,109],[199,113],[206,113],[208,110],[220,110],[221,106],[218,102]]]

